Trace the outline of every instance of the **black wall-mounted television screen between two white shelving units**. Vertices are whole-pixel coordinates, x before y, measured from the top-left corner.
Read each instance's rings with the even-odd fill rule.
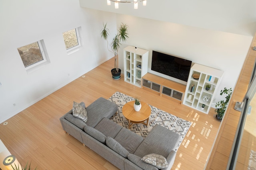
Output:
[[[151,70],[185,82],[188,81],[191,63],[186,59],[152,51]]]

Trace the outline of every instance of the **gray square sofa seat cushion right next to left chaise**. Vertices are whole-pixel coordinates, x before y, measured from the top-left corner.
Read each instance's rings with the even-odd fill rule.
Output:
[[[122,129],[122,127],[110,119],[104,117],[98,125],[94,127],[94,129],[97,129],[101,133],[103,133],[106,137],[112,137],[113,139],[116,137],[116,135],[119,133],[119,131]]]

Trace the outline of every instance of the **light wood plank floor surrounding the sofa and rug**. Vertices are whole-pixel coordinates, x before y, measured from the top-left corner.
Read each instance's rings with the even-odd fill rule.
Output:
[[[59,118],[72,109],[73,101],[88,106],[99,97],[108,99],[119,91],[192,122],[177,151],[172,170],[203,170],[220,122],[214,109],[204,114],[168,97],[159,96],[120,80],[113,80],[110,69],[113,59],[84,74],[43,100],[0,125],[0,139],[21,164],[32,162],[39,170],[114,170],[112,164],[84,147],[62,130]]]

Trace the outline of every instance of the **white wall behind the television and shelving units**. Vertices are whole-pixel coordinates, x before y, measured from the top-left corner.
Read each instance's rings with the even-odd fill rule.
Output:
[[[251,36],[134,16],[118,14],[117,20],[118,25],[126,23],[129,26],[129,38],[124,46],[132,45],[149,51],[149,69],[152,50],[156,50],[191,60],[192,64],[198,63],[224,71],[218,94],[224,87],[234,88],[252,41]],[[123,54],[119,55],[121,68]],[[216,101],[222,98],[217,95]]]

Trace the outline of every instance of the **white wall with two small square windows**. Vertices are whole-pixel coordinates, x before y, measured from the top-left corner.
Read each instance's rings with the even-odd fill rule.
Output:
[[[0,16],[0,123],[113,57],[100,30],[116,14],[78,0],[0,0]],[[67,55],[62,32],[80,26],[83,48]],[[17,48],[41,39],[51,63],[27,74]]]

